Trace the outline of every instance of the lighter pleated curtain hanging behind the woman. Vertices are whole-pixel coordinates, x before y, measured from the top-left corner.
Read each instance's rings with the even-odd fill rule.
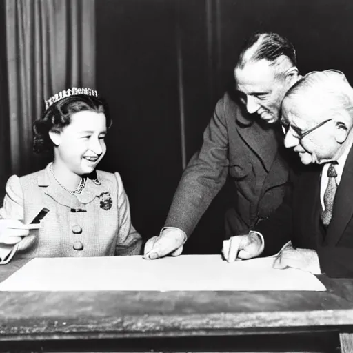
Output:
[[[38,168],[32,123],[43,99],[95,88],[94,0],[6,0],[11,174]]]

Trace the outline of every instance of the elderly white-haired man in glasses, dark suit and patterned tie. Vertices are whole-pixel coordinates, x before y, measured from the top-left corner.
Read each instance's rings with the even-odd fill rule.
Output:
[[[353,277],[353,89],[344,74],[311,72],[296,82],[281,123],[285,147],[309,166],[270,219],[223,243],[225,259],[279,252],[276,268]]]

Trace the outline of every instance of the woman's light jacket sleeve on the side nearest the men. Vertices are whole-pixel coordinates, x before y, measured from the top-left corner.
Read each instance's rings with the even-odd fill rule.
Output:
[[[142,253],[142,237],[131,223],[130,204],[125,193],[123,181],[119,173],[115,173],[118,183],[119,230],[117,234],[116,255],[140,255]]]

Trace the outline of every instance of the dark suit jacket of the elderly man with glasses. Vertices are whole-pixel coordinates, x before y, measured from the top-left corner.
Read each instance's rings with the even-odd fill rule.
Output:
[[[353,148],[348,154],[327,230],[320,219],[322,165],[312,165],[297,179],[292,202],[283,203],[259,224],[265,238],[263,255],[274,254],[288,240],[295,248],[316,250],[321,271],[331,277],[353,277]]]

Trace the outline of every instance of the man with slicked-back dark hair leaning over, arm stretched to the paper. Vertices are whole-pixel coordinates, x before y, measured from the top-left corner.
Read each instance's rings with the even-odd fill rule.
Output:
[[[165,227],[145,245],[146,259],[181,254],[228,176],[236,190],[234,207],[226,214],[228,238],[248,233],[270,216],[290,188],[288,158],[276,137],[281,101],[299,79],[294,47],[279,34],[256,34],[243,46],[234,75],[236,90],[216,104]]]

